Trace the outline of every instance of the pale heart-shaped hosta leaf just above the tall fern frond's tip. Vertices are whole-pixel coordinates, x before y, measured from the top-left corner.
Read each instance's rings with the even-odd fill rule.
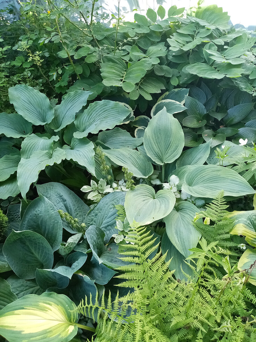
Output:
[[[150,224],[167,216],[174,207],[176,197],[171,190],[159,190],[139,184],[129,190],[125,197],[125,212],[130,224]]]

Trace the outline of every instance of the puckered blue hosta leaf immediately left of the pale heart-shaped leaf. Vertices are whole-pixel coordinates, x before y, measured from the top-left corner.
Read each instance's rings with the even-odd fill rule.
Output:
[[[104,196],[95,208],[90,210],[85,218],[85,224],[89,226],[100,227],[105,233],[104,242],[109,242],[109,239],[117,231],[116,226],[116,205],[124,205],[126,192],[113,192]]]

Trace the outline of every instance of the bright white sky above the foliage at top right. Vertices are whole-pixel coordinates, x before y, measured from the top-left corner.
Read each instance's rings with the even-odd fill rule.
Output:
[[[1,0],[0,0],[1,1]],[[113,13],[117,11],[117,0],[99,0],[102,1],[102,6],[105,9],[112,10]],[[125,13],[125,20],[132,21],[134,13],[130,12],[132,9],[138,8],[136,3],[139,3],[140,11],[137,13],[145,14],[148,8],[157,10],[159,4],[166,9],[176,5],[177,8],[189,8],[197,4],[198,0],[120,0],[121,13]],[[132,5],[132,2],[134,5]],[[250,25],[256,26],[256,0],[205,0],[203,5],[216,4],[222,7],[224,12],[228,12],[230,20],[233,25],[241,24],[245,27]],[[144,13],[143,13],[144,12]]]

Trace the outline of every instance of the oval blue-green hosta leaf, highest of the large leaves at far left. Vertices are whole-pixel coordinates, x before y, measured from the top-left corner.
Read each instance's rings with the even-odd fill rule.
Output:
[[[9,88],[9,98],[16,112],[34,125],[44,125],[54,117],[54,109],[48,98],[25,84]]]

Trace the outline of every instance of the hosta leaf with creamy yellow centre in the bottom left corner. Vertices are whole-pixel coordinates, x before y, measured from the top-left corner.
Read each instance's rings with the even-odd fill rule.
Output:
[[[1,310],[0,334],[10,342],[68,342],[77,333],[75,308],[63,294],[28,294]]]

